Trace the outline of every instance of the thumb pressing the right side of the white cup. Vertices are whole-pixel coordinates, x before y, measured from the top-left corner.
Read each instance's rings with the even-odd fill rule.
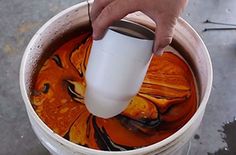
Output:
[[[154,54],[162,55],[164,48],[171,43],[176,21],[177,17],[163,16],[158,18],[153,47]]]

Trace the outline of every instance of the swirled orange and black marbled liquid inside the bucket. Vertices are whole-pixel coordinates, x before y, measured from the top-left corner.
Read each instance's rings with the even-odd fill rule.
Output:
[[[79,34],[62,44],[36,76],[32,105],[55,133],[89,148],[123,151],[159,142],[193,116],[194,77],[171,51],[153,57],[142,88],[124,112],[110,119],[91,115],[84,105],[91,45],[90,32]]]

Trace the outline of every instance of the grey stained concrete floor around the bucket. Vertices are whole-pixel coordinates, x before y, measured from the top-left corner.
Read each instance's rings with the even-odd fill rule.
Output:
[[[81,0],[0,0],[0,154],[49,154],[33,133],[19,90],[19,66],[33,34],[49,18]],[[182,15],[206,43],[214,83],[191,155],[235,155],[236,31],[202,32],[206,19],[236,24],[235,0],[190,0]],[[234,83],[235,82],[235,83]],[[229,122],[229,123],[228,123]]]

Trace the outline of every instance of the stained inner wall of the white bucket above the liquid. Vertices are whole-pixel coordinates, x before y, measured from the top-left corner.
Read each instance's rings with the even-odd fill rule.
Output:
[[[130,18],[130,20],[136,22],[133,18]],[[137,23],[145,25],[145,21],[142,21],[142,19],[137,18],[136,20],[139,21]],[[24,72],[21,74],[24,74],[24,85],[28,99],[31,96],[32,83],[34,82],[33,79],[35,79],[36,73],[44,61],[52,55],[58,45],[81,31],[91,30],[88,8],[84,6],[71,10],[69,11],[69,15],[59,14],[51,20],[50,26],[48,25],[49,23],[37,32],[38,35],[30,43],[33,46],[26,49],[27,55],[23,66]],[[153,29],[153,27],[149,28]],[[198,103],[201,103],[206,91],[208,91],[211,64],[208,62],[208,55],[203,42],[194,33],[180,19],[170,46],[179,52],[192,69],[198,88]]]

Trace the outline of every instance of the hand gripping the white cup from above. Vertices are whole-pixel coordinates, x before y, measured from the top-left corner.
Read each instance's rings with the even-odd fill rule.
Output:
[[[91,10],[93,38],[99,40],[106,29],[127,14],[141,11],[157,25],[153,52],[157,55],[172,41],[176,21],[188,0],[94,0]]]

